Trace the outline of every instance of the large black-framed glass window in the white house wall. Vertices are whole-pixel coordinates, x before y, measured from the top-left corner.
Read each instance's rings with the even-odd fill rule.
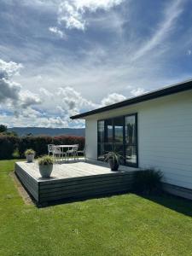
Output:
[[[137,166],[137,114],[98,121],[98,160],[113,148],[124,165]]]

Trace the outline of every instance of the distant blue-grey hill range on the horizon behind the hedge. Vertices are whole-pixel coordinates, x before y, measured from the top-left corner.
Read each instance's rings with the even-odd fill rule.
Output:
[[[84,128],[44,128],[44,127],[13,127],[9,128],[9,131],[15,131],[19,136],[26,136],[28,134],[32,135],[48,135],[48,136],[58,136],[58,135],[73,135],[73,136],[83,136]]]

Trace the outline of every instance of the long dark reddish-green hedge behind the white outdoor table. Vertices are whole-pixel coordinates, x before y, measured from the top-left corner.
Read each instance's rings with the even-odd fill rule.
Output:
[[[20,158],[24,158],[24,152],[27,148],[32,148],[36,152],[36,156],[48,153],[48,144],[79,144],[79,150],[84,148],[84,137],[76,136],[0,136],[0,159],[11,159],[18,152]]]

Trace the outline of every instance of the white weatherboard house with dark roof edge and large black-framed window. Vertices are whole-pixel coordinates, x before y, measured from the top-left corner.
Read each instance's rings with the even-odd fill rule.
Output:
[[[103,160],[114,147],[127,170],[160,169],[167,191],[192,199],[192,80],[71,119],[85,119],[90,160]]]

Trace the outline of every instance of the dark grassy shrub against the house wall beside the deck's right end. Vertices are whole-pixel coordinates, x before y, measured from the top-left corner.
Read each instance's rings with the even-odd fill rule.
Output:
[[[154,169],[137,171],[133,177],[133,189],[137,193],[157,193],[161,190],[162,177],[162,172]]]

